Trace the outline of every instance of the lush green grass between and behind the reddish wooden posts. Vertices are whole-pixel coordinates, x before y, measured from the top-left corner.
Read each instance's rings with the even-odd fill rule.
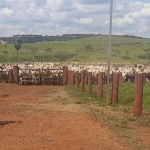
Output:
[[[110,85],[110,94],[111,94],[111,86]],[[66,87],[71,94],[79,97],[84,102],[90,103],[97,103],[100,106],[105,105],[106,100],[106,84],[103,86],[103,97],[97,97],[97,85],[92,85],[92,93],[87,93],[87,85],[84,86],[84,91],[81,92],[79,88],[75,88],[74,86],[67,86]],[[150,110],[150,84],[144,84],[143,88],[143,107],[146,110]],[[111,97],[111,96],[110,96]],[[122,83],[119,85],[119,92],[118,92],[118,103],[114,104],[113,106],[126,106],[131,107],[133,106],[134,101],[134,84],[133,83]]]

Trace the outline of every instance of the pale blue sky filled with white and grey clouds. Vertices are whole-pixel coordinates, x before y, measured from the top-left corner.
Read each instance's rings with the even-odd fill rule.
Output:
[[[109,34],[111,0],[1,0],[0,37]],[[150,0],[113,0],[113,35],[150,38]]]

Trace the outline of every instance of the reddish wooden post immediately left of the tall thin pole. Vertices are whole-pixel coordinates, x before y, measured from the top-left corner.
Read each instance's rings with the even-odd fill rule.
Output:
[[[98,91],[97,96],[101,97],[103,96],[103,73],[98,72]]]

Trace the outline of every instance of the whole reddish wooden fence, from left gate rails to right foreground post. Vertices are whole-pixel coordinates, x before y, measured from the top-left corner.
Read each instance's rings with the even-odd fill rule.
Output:
[[[59,70],[61,73],[52,73],[50,71]],[[47,74],[45,73],[47,72]],[[48,76],[50,75],[50,76]],[[23,78],[24,77],[24,78]],[[22,81],[26,81],[26,76],[23,76]],[[29,79],[29,78],[28,78]],[[68,70],[68,66],[63,66],[63,69],[43,69],[39,70],[38,74],[34,74],[32,77],[32,84],[53,84],[57,85],[75,85],[75,87],[79,88],[81,91],[84,91],[84,85],[87,84],[87,93],[92,93],[92,84],[97,84],[97,96],[103,96],[103,84],[104,84],[104,73],[99,72],[98,75],[92,76],[92,72],[86,72],[85,70],[81,71],[72,71]],[[0,71],[0,82],[6,83],[20,83],[19,77],[19,67],[13,66],[13,69],[9,71]],[[27,80],[26,82],[30,82]],[[112,75],[112,103],[118,102],[118,90],[119,84],[123,82],[122,73],[113,73]],[[142,103],[143,103],[143,84],[146,82],[146,74],[145,73],[137,73],[135,74],[135,89],[134,89],[134,109],[133,113],[135,116],[140,116],[142,114]]]

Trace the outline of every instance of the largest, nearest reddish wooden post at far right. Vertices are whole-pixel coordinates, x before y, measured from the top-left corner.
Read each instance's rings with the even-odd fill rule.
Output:
[[[135,74],[134,85],[134,116],[142,115],[143,108],[143,73]]]

